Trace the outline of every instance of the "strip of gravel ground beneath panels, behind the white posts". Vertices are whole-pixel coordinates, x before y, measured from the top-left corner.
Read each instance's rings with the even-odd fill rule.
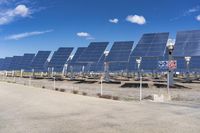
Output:
[[[0,77],[0,80],[3,80]],[[4,79],[5,81],[15,82],[17,84],[29,85],[29,79],[25,78],[13,78],[7,77]],[[138,101],[139,99],[139,89],[138,88],[121,88],[120,86],[124,83],[131,83],[135,81],[122,81],[121,84],[103,84],[103,94],[117,96],[120,100],[125,101]],[[144,81],[144,83],[148,83],[149,88],[143,89],[143,98],[152,94],[164,94],[167,95],[167,88],[156,88],[153,86],[152,81]],[[170,94],[173,101],[193,101],[200,103],[200,82],[186,84],[186,83],[178,83],[179,85],[183,85],[190,89],[171,89]],[[31,86],[40,87],[45,89],[54,89],[54,82],[47,79],[40,80],[31,80]],[[56,81],[55,88],[64,89],[66,92],[71,93],[73,90],[77,90],[79,94],[83,92],[87,93],[89,96],[96,97],[97,93],[100,93],[100,84],[99,82],[93,84],[77,84],[76,81]]]

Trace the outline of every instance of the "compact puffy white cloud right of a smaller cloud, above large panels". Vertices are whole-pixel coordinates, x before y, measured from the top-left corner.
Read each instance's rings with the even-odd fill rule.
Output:
[[[139,16],[139,15],[129,15],[126,18],[126,21],[139,24],[139,25],[143,25],[146,23],[146,19],[143,16]]]

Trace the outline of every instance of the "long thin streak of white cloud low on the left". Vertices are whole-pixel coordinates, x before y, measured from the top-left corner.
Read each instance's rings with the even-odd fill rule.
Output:
[[[52,32],[53,30],[46,30],[46,31],[33,31],[33,32],[25,32],[25,33],[20,33],[20,34],[14,34],[5,37],[5,40],[20,40],[26,37],[31,37],[31,36],[36,36],[36,35],[42,35],[45,33]]]

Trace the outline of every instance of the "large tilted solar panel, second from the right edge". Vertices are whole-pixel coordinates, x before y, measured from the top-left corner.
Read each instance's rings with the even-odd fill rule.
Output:
[[[134,57],[158,57],[164,56],[169,33],[144,34],[131,56]]]

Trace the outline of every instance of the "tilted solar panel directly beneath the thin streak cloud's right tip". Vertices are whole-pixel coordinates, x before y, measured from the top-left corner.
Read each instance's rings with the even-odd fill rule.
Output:
[[[45,65],[47,63],[47,59],[50,55],[51,51],[39,51],[33,62],[31,64],[31,68],[34,69],[35,72],[43,72],[47,71]]]

